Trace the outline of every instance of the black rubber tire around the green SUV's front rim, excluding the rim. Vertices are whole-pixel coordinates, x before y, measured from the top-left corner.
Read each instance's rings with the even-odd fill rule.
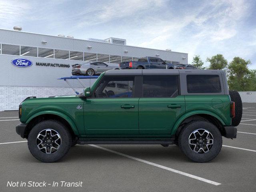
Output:
[[[46,154],[40,151],[36,144],[36,139],[38,134],[45,129],[52,129],[58,132],[58,134],[61,137],[60,148],[52,154]],[[45,121],[39,122],[32,128],[32,130],[28,135],[28,149],[30,153],[36,159],[46,163],[56,162],[60,160],[63,156],[67,154],[67,152],[71,147],[71,144],[72,144],[72,136],[70,134],[70,130],[68,130],[68,128],[64,124],[56,120],[45,120]]]

